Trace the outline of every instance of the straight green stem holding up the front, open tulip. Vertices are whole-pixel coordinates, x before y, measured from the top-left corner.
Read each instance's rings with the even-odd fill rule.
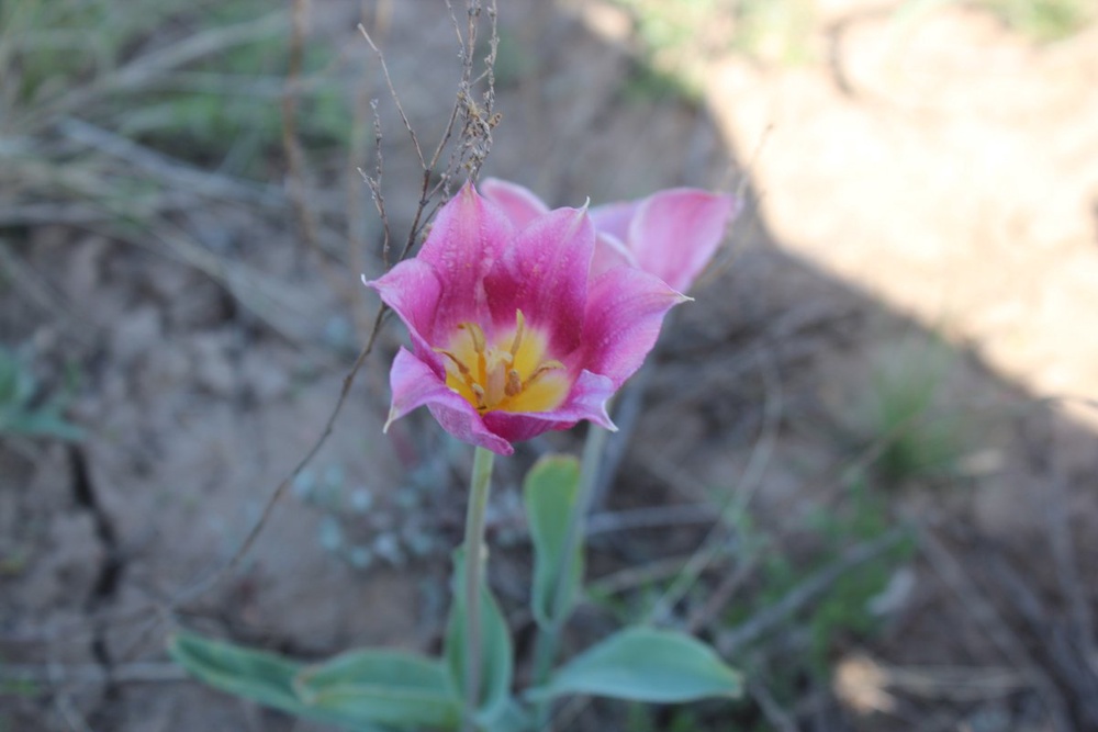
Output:
[[[480,586],[484,571],[484,513],[492,491],[492,461],[495,454],[477,448],[469,485],[466,514],[466,721],[464,729],[475,729],[473,716],[480,701],[481,622]]]

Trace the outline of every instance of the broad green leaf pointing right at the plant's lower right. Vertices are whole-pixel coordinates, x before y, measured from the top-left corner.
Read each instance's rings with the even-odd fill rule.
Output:
[[[584,694],[649,702],[737,697],[740,676],[705,643],[683,633],[627,628],[560,668],[534,700]]]

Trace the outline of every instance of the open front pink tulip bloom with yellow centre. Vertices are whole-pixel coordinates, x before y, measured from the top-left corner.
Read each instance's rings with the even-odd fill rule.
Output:
[[[386,428],[426,406],[458,439],[500,454],[583,419],[614,429],[606,401],[687,299],[637,267],[594,270],[586,209],[533,201],[516,217],[466,184],[418,256],[366,282],[412,338],[393,361]]]

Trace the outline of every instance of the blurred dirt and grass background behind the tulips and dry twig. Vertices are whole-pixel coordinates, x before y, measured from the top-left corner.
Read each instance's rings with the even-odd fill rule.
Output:
[[[552,205],[746,204],[619,402],[568,643],[686,628],[748,694],[559,729],[1098,729],[1096,20],[501,3],[484,174]],[[395,322],[227,564],[371,331],[362,173],[393,258],[421,195],[359,23],[429,154],[461,76],[441,0],[0,2],[0,731],[321,729],[187,680],[179,627],[437,651],[471,458],[423,415],[381,433]],[[520,675],[518,482],[580,440],[500,465]]]

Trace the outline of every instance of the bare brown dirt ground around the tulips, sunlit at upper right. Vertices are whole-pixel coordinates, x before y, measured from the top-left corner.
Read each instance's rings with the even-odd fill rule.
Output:
[[[816,60],[710,53],[691,98],[637,93],[649,77],[617,5],[501,3],[488,174],[559,205],[671,185],[746,202],[619,404],[591,573],[625,583],[638,619],[669,562],[674,576],[717,547],[658,619],[705,634],[750,694],[699,707],[694,727],[596,703],[568,729],[1098,729],[1098,409],[1050,401],[1098,396],[1098,29],[1039,47],[960,4],[898,23],[900,4],[820,2]],[[341,49],[333,74],[348,94],[380,100],[401,229],[415,170],[358,9],[315,5],[310,43]],[[450,19],[441,3],[383,8],[376,35],[407,115],[437,129],[457,72]],[[179,627],[303,658],[437,650],[471,454],[423,415],[382,435],[394,322],[321,451],[217,573],[324,431],[377,306],[344,244],[344,207],[373,211],[356,182],[366,155],[311,160],[323,257],[289,203],[178,214],[222,277],[186,248],[60,224],[0,232],[20,267],[5,260],[0,340],[32,344],[43,383],[79,368],[68,416],[87,430],[74,443],[0,437],[0,731],[321,729],[186,679],[164,651]],[[377,273],[378,224],[355,221]],[[949,471],[874,472],[914,429],[874,417],[883,373],[929,380],[916,418],[954,428]],[[520,654],[517,485],[537,455],[580,439],[535,440],[500,466],[492,582]],[[887,565],[873,631],[843,629],[824,672],[800,662],[785,678],[822,607],[811,588],[856,575],[884,544],[840,537],[847,553],[732,622],[732,598],[766,588],[748,521],[768,552],[817,566],[806,527],[851,511],[863,470],[912,549]],[[608,615],[584,609],[573,641]]]

